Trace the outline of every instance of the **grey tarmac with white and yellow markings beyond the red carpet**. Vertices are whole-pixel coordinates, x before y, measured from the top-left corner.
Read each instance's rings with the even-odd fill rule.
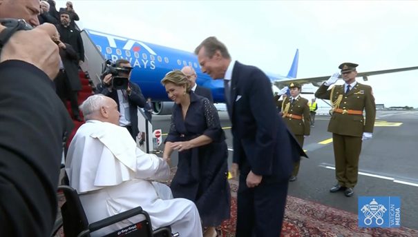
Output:
[[[219,116],[231,165],[231,123],[227,112],[220,111]],[[329,120],[330,116],[316,116],[315,127],[311,127],[303,147],[310,158],[301,161],[298,179],[289,183],[288,194],[354,214],[359,212],[359,196],[399,196],[401,226],[418,229],[418,111],[377,111],[373,138],[363,141],[359,181],[350,198],[343,192],[329,192],[336,184],[332,134],[327,132]],[[169,115],[153,116],[153,129],[162,129],[163,140],[169,126]],[[164,150],[163,146],[158,149]],[[171,158],[172,165],[177,165],[177,154]]]

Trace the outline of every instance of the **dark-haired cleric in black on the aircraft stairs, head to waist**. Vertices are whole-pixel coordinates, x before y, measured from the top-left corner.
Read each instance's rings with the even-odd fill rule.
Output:
[[[77,52],[79,59],[78,63],[80,64],[84,62],[84,45],[82,36],[78,30],[70,25],[71,20],[68,12],[59,12],[59,17],[61,19],[61,24],[57,25],[57,30],[59,32],[60,39],[62,42],[69,43],[73,46],[73,49]]]

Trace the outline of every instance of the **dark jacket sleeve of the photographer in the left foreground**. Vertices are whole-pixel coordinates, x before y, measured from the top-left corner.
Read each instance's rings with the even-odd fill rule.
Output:
[[[10,60],[0,75],[0,236],[46,236],[57,216],[63,135],[73,123],[39,68]]]

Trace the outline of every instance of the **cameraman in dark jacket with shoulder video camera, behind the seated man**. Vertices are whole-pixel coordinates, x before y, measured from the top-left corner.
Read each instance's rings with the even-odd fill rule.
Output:
[[[107,65],[109,68],[109,65]],[[97,92],[111,97],[117,103],[117,110],[120,112],[120,126],[126,127],[131,134],[133,140],[136,141],[138,130],[138,116],[137,107],[145,106],[145,98],[142,95],[140,86],[131,81],[131,63],[126,59],[118,59],[115,62],[115,68],[110,66],[110,69],[104,71],[103,82],[97,86]],[[117,72],[114,72],[117,70]],[[113,73],[111,73],[113,71]],[[126,89],[120,89],[121,85],[115,88],[115,79],[117,84],[124,84],[123,79],[126,79]],[[122,87],[124,87],[122,85]]]

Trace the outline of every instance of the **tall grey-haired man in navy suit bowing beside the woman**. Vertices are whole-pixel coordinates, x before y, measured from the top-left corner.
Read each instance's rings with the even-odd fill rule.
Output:
[[[212,79],[224,79],[234,136],[231,174],[240,169],[236,236],[280,236],[293,163],[305,156],[273,101],[272,84],[258,68],[232,61],[215,37],[195,53]]]

